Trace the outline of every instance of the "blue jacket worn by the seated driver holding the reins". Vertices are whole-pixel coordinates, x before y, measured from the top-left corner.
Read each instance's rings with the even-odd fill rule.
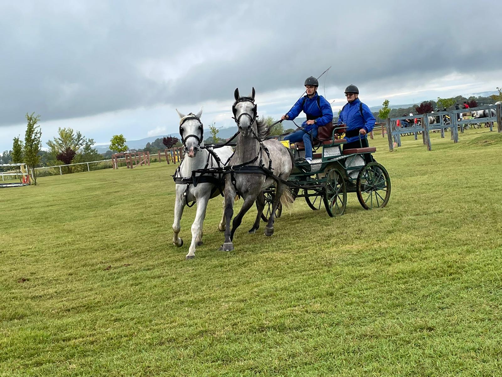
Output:
[[[319,106],[317,105],[317,98],[319,97]],[[305,105],[303,102],[305,101]],[[320,109],[319,109],[320,107]],[[307,115],[307,120],[315,119],[315,124],[307,124],[303,122],[302,126],[305,131],[310,131],[316,129],[318,126],[325,126],[329,122],[333,122],[333,110],[331,110],[331,105],[326,101],[326,99],[315,92],[314,97],[308,98],[304,96],[298,100],[298,102],[293,106],[293,108],[288,112],[289,120],[293,120],[298,117],[301,112]]]

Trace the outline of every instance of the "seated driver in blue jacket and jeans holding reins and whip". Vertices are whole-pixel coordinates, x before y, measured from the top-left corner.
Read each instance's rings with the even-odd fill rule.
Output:
[[[303,141],[305,144],[305,159],[312,162],[312,138],[317,137],[317,127],[333,123],[333,111],[331,105],[324,97],[317,94],[319,82],[314,76],[305,80],[307,95],[300,98],[293,108],[281,119],[293,120],[303,110],[307,120],[302,123],[302,129],[284,137],[292,143]]]

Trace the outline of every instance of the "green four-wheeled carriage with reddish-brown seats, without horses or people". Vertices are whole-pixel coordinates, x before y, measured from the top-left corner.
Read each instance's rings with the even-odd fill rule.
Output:
[[[333,129],[331,138],[314,143],[316,151],[311,164],[304,160],[303,143],[290,147],[295,166],[287,184],[294,198],[305,198],[312,210],[319,210],[324,205],[330,217],[343,215],[347,193],[356,193],[359,203],[366,210],[385,207],[391,195],[389,173],[372,157],[376,148],[361,146],[342,150],[346,140],[341,135],[345,130],[345,125],[340,125]],[[270,216],[274,193],[274,186],[265,191],[264,221]],[[282,207],[279,206],[276,216],[280,217],[281,212]]]

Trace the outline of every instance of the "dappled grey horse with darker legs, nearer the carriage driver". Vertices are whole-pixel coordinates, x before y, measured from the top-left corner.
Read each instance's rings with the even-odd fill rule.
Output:
[[[293,157],[291,152],[278,140],[263,140],[268,133],[264,121],[257,120],[257,105],[255,104],[255,88],[249,97],[240,97],[239,89],[234,92],[235,103],[232,106],[233,116],[239,135],[235,146],[235,153],[228,162],[227,166],[233,166],[231,173],[225,177],[225,242],[220,250],[233,250],[233,235],[235,230],[242,222],[245,213],[253,206],[256,201],[258,215],[253,228],[249,233],[255,233],[260,227],[260,220],[265,207],[265,196],[263,191],[275,183],[276,191],[274,202],[272,204],[272,213],[265,228],[265,235],[274,234],[274,221],[276,210],[279,203],[287,206],[293,203],[293,196],[286,181],[293,169]],[[239,166],[245,166],[244,169],[256,168],[256,173],[238,172]],[[263,174],[259,168],[263,166],[266,169],[270,167],[275,177]],[[254,167],[254,168],[253,168]],[[233,203],[236,195],[244,199],[242,207],[233,219],[230,228],[230,220],[233,216]]]

